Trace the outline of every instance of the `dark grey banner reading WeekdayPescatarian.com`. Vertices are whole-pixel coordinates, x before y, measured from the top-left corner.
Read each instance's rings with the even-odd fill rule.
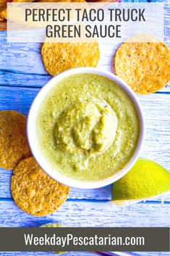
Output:
[[[169,228],[0,228],[1,252],[169,252]]]

